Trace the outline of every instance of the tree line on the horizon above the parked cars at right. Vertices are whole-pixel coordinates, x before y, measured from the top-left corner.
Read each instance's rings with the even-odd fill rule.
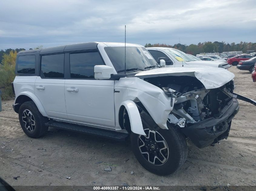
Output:
[[[204,43],[198,43],[186,45],[186,44],[175,44],[175,45],[169,45],[169,44],[160,44],[160,43],[147,43],[145,44],[145,47],[169,47],[169,48],[175,48],[179,49],[182,52],[197,55],[200,53],[222,53],[222,52],[231,52],[231,51],[242,51],[243,53],[247,53],[248,50],[253,50],[256,52],[256,43],[247,43],[247,42],[240,42],[239,44],[236,43],[225,43],[225,42],[204,42]]]

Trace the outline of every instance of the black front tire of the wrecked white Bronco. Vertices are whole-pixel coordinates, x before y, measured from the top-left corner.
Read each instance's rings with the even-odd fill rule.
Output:
[[[145,140],[145,136],[144,135],[138,135],[135,134],[133,132],[131,132],[131,146],[132,146],[132,150],[134,152],[135,157],[137,158],[137,160],[139,161],[139,163],[141,164],[141,166],[143,166],[146,170],[158,174],[158,175],[168,175],[171,173],[174,173],[176,170],[178,170],[186,161],[187,156],[188,156],[188,147],[187,147],[187,142],[185,140],[185,137],[183,134],[181,134],[181,132],[179,131],[179,129],[177,129],[176,127],[171,126],[170,124],[168,125],[168,129],[160,129],[157,131],[152,131],[155,132],[156,134],[156,139],[159,141],[161,140],[161,137],[158,135],[158,133],[162,136],[162,138],[164,138],[164,141],[168,147],[168,154],[166,154],[167,149],[162,149],[162,155],[159,154],[158,150],[161,149],[161,142],[157,142],[157,144],[155,145],[155,142],[150,142],[150,140],[152,141],[152,139],[150,138],[152,135],[148,136],[148,134],[152,134],[152,132],[149,133],[149,129],[144,129],[148,139],[148,142],[146,142]],[[143,141],[145,141],[145,146],[143,146]],[[148,144],[149,143],[149,144]],[[151,144],[152,143],[152,144]],[[151,144],[151,145],[150,145]],[[142,146],[141,146],[142,145]],[[148,146],[149,148],[146,148],[146,145],[150,145]],[[152,146],[154,145],[154,146]],[[164,144],[162,144],[164,145]],[[139,148],[141,147],[141,148]],[[151,162],[153,162],[152,157],[155,158],[154,156],[154,152],[155,149],[157,149],[159,147],[159,149],[156,151],[157,156],[160,158],[160,160],[162,160],[165,155],[165,157],[167,156],[166,160],[163,159],[162,161],[165,160],[164,163],[162,163],[160,160],[158,160],[157,158],[155,159],[155,164],[152,164]],[[142,154],[142,152],[145,152],[145,149],[154,149],[153,154],[150,153],[148,154]],[[142,152],[141,152],[142,151]],[[152,152],[147,150],[148,153]],[[164,155],[163,155],[164,154]],[[150,161],[148,161],[148,156],[150,156]],[[147,159],[146,159],[147,158]],[[161,164],[162,163],[162,164]]]

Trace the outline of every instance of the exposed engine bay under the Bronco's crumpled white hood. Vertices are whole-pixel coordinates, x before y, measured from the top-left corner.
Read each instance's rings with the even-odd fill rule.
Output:
[[[190,76],[164,76],[144,80],[175,99],[168,121],[180,127],[190,126],[210,117],[220,117],[233,97],[233,80],[215,89],[205,89],[197,78]]]

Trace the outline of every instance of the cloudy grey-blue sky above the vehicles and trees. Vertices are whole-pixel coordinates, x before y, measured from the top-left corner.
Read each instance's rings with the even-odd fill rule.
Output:
[[[0,49],[256,42],[255,0],[0,0]],[[180,40],[179,40],[180,39]]]

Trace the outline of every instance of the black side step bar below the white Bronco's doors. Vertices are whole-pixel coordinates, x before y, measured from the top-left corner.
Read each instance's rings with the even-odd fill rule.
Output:
[[[65,129],[68,131],[81,132],[89,135],[96,135],[104,138],[114,139],[117,141],[125,141],[125,138],[129,136],[128,133],[116,132],[106,129],[99,129],[94,127],[88,127],[83,125],[76,125],[65,122],[50,121],[45,123],[45,126],[56,127],[59,129]]]

